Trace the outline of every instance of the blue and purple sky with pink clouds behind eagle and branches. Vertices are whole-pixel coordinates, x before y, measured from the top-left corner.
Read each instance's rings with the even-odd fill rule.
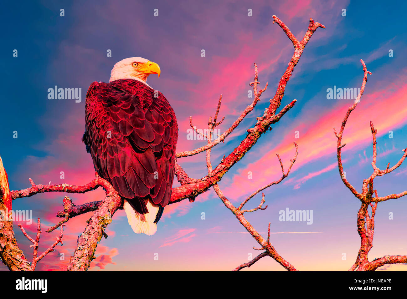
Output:
[[[144,57],[160,65],[160,78],[152,75],[147,82],[160,90],[175,110],[178,152],[205,144],[188,140],[189,117],[197,128],[205,129],[220,94],[219,115],[225,120],[219,129],[223,132],[229,128],[252,102],[249,83],[257,63],[260,87],[268,81],[268,89],[239,127],[213,149],[212,161],[217,165],[263,114],[293,54],[291,41],[273,24],[272,15],[277,15],[298,39],[312,17],[326,28],[317,29],[311,37],[287,85],[282,107],[297,99],[295,107],[260,137],[219,186],[234,205],[239,205],[254,190],[281,177],[275,154],[280,154],[287,169],[295,153],[293,143],[297,142],[299,155],[289,177],[264,191],[266,210],[246,218],[263,236],[267,236],[270,222],[271,244],[298,270],[346,271],[359,250],[356,220],[360,202],[341,182],[333,127],[340,128],[353,100],[330,99],[327,89],[360,88],[360,59],[372,72],[346,125],[342,150],[347,178],[361,191],[363,179],[372,173],[370,121],[378,130],[380,168],[387,162],[395,164],[407,146],[407,61],[403,55],[407,34],[405,16],[399,13],[406,6],[405,2],[383,6],[379,1],[323,0],[7,2],[1,17],[0,155],[10,188],[28,188],[28,178],[42,184],[81,185],[92,180],[92,158],[81,142],[86,91],[94,81],[109,81],[114,63],[127,57]],[[155,9],[158,16],[154,16]],[[205,57],[201,57],[201,50],[205,50]],[[48,89],[55,85],[81,88],[81,101],[49,99]],[[178,163],[190,177],[201,178],[207,173],[205,153],[180,158]],[[406,167],[376,178],[379,196],[405,190]],[[179,186],[176,180],[174,186]],[[28,234],[35,234],[36,219],[41,218],[44,233],[39,251],[46,250],[59,234],[46,233],[45,229],[60,220],[55,215],[62,209],[64,195],[43,193],[13,201],[13,210],[32,211],[33,223],[22,223]],[[79,205],[103,199],[104,192],[69,196]],[[258,194],[245,207],[254,208],[260,200]],[[379,203],[370,260],[385,254],[407,254],[406,200]],[[280,210],[287,208],[312,211],[312,224],[280,221]],[[37,270],[66,269],[90,216],[68,221],[63,246],[58,245],[41,260]],[[30,260],[30,242],[17,223],[14,230]],[[194,203],[185,200],[167,206],[153,236],[134,234],[123,210],[114,214],[106,233],[108,238],[98,245],[90,271],[225,271],[259,253],[252,249],[258,243],[212,188]],[[0,270],[7,268],[0,265]],[[284,268],[265,257],[247,270]],[[407,267],[399,264],[379,270],[405,271]]]

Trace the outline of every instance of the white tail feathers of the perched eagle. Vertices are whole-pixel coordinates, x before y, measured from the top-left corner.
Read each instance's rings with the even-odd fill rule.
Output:
[[[146,205],[149,211],[147,214],[136,212],[126,200],[123,203],[123,208],[127,215],[127,221],[133,231],[136,234],[144,233],[151,236],[157,231],[157,223],[154,223],[154,220],[160,207],[151,203],[149,200],[146,201]]]

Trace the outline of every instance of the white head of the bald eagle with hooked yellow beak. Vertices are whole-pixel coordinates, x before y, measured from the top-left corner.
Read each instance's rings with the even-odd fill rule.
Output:
[[[109,82],[118,79],[135,79],[146,83],[149,74],[158,74],[160,77],[160,72],[160,66],[157,63],[142,57],[130,57],[114,65]]]

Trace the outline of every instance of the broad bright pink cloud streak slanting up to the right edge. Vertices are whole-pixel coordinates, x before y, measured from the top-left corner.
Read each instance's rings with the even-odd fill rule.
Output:
[[[405,105],[406,79],[407,70],[404,70],[397,82],[375,92],[365,92],[361,103],[352,111],[346,124],[343,137],[343,143],[346,143],[342,150],[343,159],[346,158],[348,151],[355,150],[371,142],[370,120],[373,121],[375,128],[378,130],[378,135],[387,134],[389,130],[401,127],[407,122],[407,106]],[[256,190],[269,183],[269,181],[278,178],[281,168],[276,153],[280,154],[283,164],[287,165],[294,155],[294,141],[299,145],[299,155],[291,173],[311,161],[328,155],[335,155],[337,138],[333,133],[333,127],[340,128],[344,115],[351,104],[351,101],[339,102],[330,110],[322,111],[320,113],[322,116],[312,123],[305,126],[302,123],[303,129],[300,129],[300,139],[295,139],[293,135],[284,137],[279,145],[264,155],[256,157],[255,162],[241,168],[231,180],[233,183],[224,188],[224,193],[228,194],[231,199],[237,199],[241,194],[247,194],[250,190]],[[392,117],[383,117],[383,115],[391,115]],[[284,122],[284,119],[281,121]],[[294,132],[297,129],[293,127],[292,131]],[[253,179],[247,178],[249,171],[253,172]]]

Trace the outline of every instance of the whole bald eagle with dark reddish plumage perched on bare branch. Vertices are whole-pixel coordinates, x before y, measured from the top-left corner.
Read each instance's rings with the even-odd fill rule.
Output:
[[[137,234],[153,235],[171,199],[178,125],[165,96],[147,84],[157,63],[141,57],[114,65],[109,83],[86,94],[83,142],[98,175],[123,200]]]

